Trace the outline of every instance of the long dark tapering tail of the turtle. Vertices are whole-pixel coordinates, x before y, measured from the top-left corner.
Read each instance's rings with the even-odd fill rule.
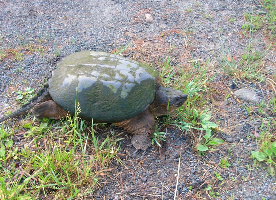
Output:
[[[14,117],[18,117],[20,115],[27,114],[37,103],[51,100],[51,96],[49,94],[49,85],[48,83],[44,84],[44,87],[39,90],[37,95],[32,98],[27,104],[23,105],[19,110],[7,115],[0,119],[0,122],[5,121],[7,119],[11,119]]]

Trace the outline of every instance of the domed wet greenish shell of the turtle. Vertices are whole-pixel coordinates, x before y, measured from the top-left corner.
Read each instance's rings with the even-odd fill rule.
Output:
[[[154,100],[158,71],[118,55],[82,51],[57,64],[49,79],[53,100],[70,114],[78,101],[79,117],[120,122],[143,112]]]

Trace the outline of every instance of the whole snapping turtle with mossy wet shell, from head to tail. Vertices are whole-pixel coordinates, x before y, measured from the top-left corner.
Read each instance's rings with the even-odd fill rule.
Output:
[[[131,143],[146,151],[154,132],[154,116],[173,112],[186,100],[179,90],[161,86],[154,68],[118,55],[82,51],[57,64],[37,97],[1,121],[31,111],[37,118],[60,119],[74,114],[113,123],[133,134]]]

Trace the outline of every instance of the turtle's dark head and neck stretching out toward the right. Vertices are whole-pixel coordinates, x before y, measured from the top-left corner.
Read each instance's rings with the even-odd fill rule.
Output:
[[[154,116],[166,115],[182,106],[186,99],[187,95],[180,90],[160,86],[156,90],[155,100],[149,110]]]

